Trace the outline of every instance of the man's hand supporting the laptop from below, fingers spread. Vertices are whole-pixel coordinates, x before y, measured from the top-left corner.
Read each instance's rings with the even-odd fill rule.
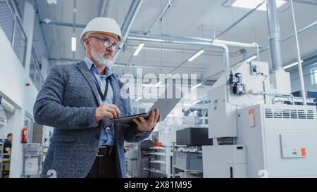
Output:
[[[161,115],[159,115],[159,110],[153,110],[148,120],[145,120],[144,117],[139,117],[133,119],[137,124],[137,129],[141,132],[149,132],[152,128],[156,126],[161,121]]]

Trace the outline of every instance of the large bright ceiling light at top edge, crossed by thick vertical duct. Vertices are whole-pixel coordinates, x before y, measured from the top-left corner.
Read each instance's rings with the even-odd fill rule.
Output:
[[[232,6],[237,8],[247,8],[247,9],[253,9],[256,8],[259,4],[261,4],[263,0],[236,0]],[[287,1],[284,0],[276,0],[276,6],[280,8],[280,6],[286,4]],[[259,11],[266,11],[266,4],[262,4],[258,8]]]

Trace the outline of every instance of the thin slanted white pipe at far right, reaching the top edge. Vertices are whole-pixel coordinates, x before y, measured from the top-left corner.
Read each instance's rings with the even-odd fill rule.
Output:
[[[291,10],[292,10],[294,37],[295,37],[295,43],[296,43],[296,48],[297,48],[299,84],[301,85],[303,104],[307,105],[306,94],[305,94],[305,85],[304,85],[304,77],[303,77],[303,69],[302,69],[302,58],[301,58],[301,52],[299,51],[298,34],[297,34],[296,20],[295,20],[295,14],[294,14],[293,0],[290,0],[290,4],[291,4]]]

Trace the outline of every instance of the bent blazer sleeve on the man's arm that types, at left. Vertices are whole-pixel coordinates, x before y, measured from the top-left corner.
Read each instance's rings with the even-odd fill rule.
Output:
[[[35,122],[58,129],[97,127],[99,122],[95,120],[96,108],[63,105],[65,84],[61,68],[53,65],[35,101]]]

